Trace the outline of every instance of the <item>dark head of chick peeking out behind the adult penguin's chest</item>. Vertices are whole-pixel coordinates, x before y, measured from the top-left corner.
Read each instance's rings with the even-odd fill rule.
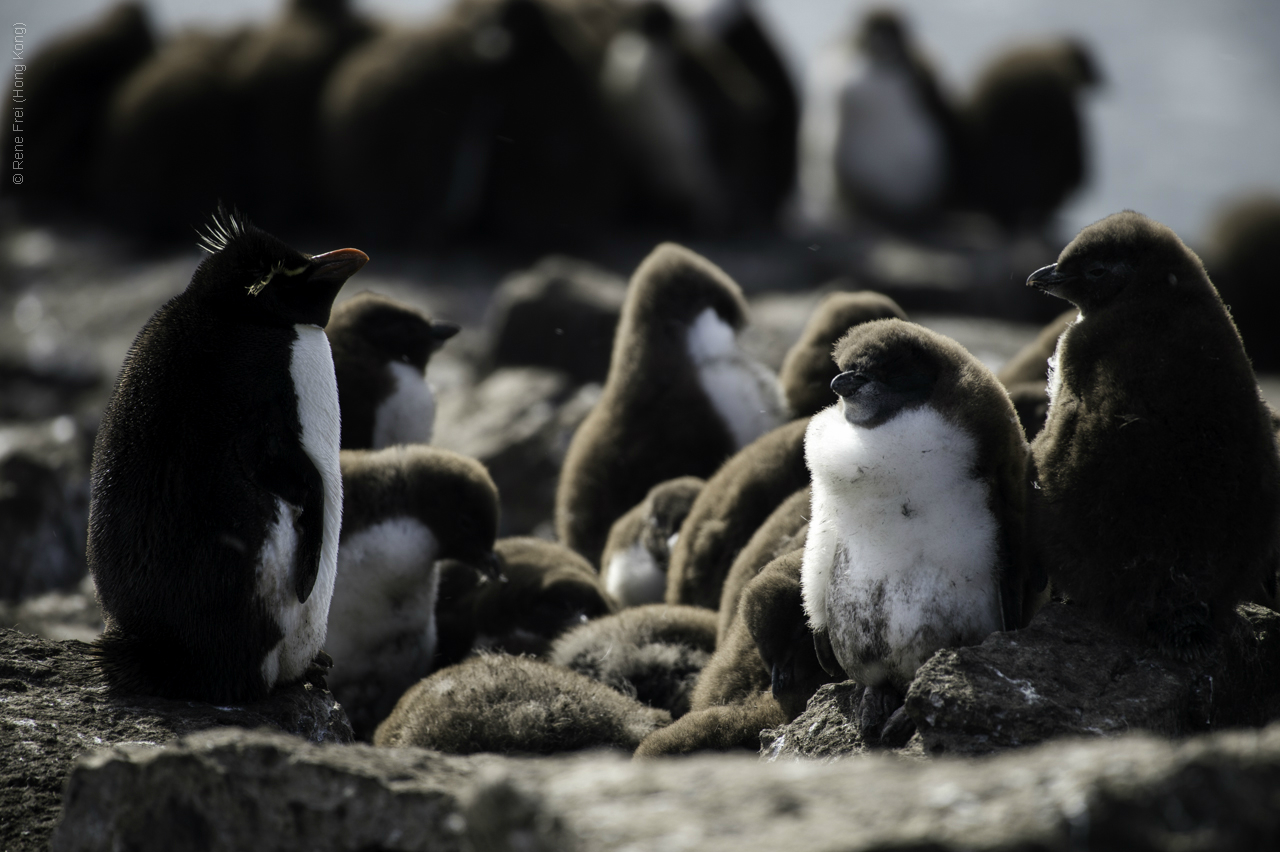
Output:
[[[337,306],[325,331],[335,353],[362,349],[383,362],[402,361],[425,370],[431,353],[457,334],[458,326],[365,292]]]

